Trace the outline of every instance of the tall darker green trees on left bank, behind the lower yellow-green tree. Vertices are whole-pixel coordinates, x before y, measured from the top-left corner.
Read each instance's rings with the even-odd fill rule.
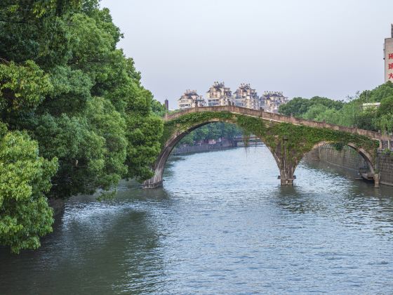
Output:
[[[8,1],[2,8],[7,21],[0,18],[0,41],[17,38],[18,44],[13,51],[0,46],[0,56],[23,67],[4,65],[0,77],[6,81],[18,70],[32,84],[30,98],[18,93],[20,79],[3,83],[4,97],[18,97],[26,112],[14,118],[13,110],[2,118],[13,129],[28,130],[46,159],[58,157],[51,196],[107,190],[122,177],[151,176],[162,133],[153,112],[160,114],[161,105],[140,84],[133,60],[116,48],[122,35],[109,10],[94,0]],[[4,110],[8,101],[18,103],[4,99]]]

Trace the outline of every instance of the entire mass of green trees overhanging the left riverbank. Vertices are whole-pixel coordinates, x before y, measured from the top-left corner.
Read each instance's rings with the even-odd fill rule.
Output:
[[[50,231],[46,197],[152,176],[162,105],[121,38],[98,0],[1,1],[0,244],[12,251]]]

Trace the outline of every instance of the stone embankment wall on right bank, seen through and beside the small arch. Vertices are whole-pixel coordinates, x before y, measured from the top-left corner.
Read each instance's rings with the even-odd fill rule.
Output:
[[[366,167],[364,159],[351,147],[343,147],[337,150],[332,145],[324,145],[312,150],[305,155],[305,161],[321,161],[334,164],[346,169],[359,171],[359,168]],[[378,152],[377,169],[380,173],[380,183],[385,185],[393,185],[393,154],[383,155]]]

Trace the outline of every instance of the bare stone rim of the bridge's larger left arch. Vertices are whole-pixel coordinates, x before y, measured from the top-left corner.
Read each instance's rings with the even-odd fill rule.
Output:
[[[176,131],[175,133],[171,134],[171,137],[166,140],[166,143],[164,143],[164,146],[159,154],[159,156],[156,159],[156,162],[154,163],[153,170],[154,170],[154,176],[152,178],[149,178],[147,181],[142,183],[143,188],[158,188],[159,186],[162,185],[163,182],[163,174],[164,174],[164,169],[165,169],[165,164],[171,155],[171,152],[173,148],[184,138],[187,136],[187,134],[191,133],[195,129],[198,129],[201,126],[207,125],[207,124],[212,124],[212,123],[218,123],[218,122],[224,122],[224,123],[229,123],[229,124],[234,124],[236,126],[239,126],[236,121],[232,121],[229,119],[220,119],[220,118],[213,118],[213,119],[208,119],[205,122],[199,122],[198,124],[195,124],[193,126],[190,126],[184,131]],[[241,128],[239,126],[239,128]],[[269,149],[271,152],[272,156],[274,157],[274,160],[276,161],[277,167],[280,169],[280,164],[281,160],[279,157],[276,155],[272,147],[269,147],[260,136],[258,137],[262,143],[266,145],[266,147]]]

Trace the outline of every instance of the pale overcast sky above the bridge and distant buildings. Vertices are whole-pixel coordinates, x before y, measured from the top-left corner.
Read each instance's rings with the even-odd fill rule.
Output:
[[[102,0],[142,84],[170,108],[185,89],[250,83],[343,99],[384,82],[392,0]]]

